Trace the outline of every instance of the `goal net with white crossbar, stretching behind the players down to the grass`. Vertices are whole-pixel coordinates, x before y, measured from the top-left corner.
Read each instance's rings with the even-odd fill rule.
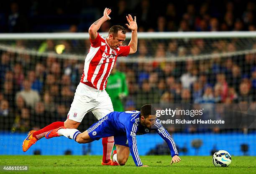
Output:
[[[130,38],[127,33],[124,45]],[[89,48],[87,33],[0,34],[5,149],[0,154],[22,154],[25,133],[67,119]],[[220,149],[256,155],[256,32],[138,33],[137,53],[118,58],[114,69],[110,78],[116,72],[125,77],[109,80],[106,88],[115,111],[154,103],[163,110],[204,108],[208,119],[226,121],[217,126],[164,124],[181,155],[210,155]],[[239,116],[230,113],[237,108]],[[78,129],[85,131],[96,121],[87,113]],[[51,141],[58,148],[46,152],[49,141],[38,141],[28,153],[102,154],[100,142],[79,145],[66,139]],[[140,154],[168,154],[166,147],[158,134],[138,137]]]

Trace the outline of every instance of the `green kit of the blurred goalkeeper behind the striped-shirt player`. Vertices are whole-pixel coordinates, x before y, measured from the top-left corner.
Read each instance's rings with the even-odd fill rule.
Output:
[[[122,99],[128,95],[125,74],[120,71],[111,73],[108,78],[106,91],[111,98],[114,111],[124,111]]]

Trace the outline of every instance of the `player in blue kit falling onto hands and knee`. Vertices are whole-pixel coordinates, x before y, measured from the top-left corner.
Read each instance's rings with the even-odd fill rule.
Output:
[[[83,133],[77,129],[60,127],[48,131],[45,137],[66,136],[84,144],[114,136],[116,151],[113,153],[113,165],[125,165],[131,152],[136,166],[147,166],[142,164],[138,155],[136,135],[147,134],[151,130],[155,130],[168,144],[172,155],[171,164],[181,161],[172,137],[156,119],[156,110],[150,104],[142,106],[141,111],[111,112]]]

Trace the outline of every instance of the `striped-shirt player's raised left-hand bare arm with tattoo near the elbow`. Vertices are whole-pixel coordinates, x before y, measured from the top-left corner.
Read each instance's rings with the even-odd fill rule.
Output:
[[[100,29],[100,26],[102,23],[104,23],[107,20],[110,20],[109,14],[111,13],[111,9],[105,8],[103,16],[96,20],[89,28],[89,35],[92,40],[95,40],[97,38],[97,31]]]

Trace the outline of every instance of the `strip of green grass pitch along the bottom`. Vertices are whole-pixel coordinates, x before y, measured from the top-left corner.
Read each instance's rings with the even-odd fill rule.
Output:
[[[102,166],[101,156],[0,156],[0,166],[29,166],[29,171],[0,174],[256,174],[255,156],[233,156],[229,167],[215,167],[211,156],[181,156],[170,164],[170,156],[141,156],[136,167],[131,156],[125,166]]]

